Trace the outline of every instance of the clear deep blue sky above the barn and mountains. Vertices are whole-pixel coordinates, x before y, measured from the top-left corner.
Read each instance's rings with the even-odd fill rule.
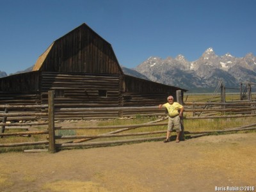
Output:
[[[120,65],[150,56],[195,61],[256,54],[255,0],[0,0],[0,70],[24,70],[54,40],[83,23],[108,41]]]

